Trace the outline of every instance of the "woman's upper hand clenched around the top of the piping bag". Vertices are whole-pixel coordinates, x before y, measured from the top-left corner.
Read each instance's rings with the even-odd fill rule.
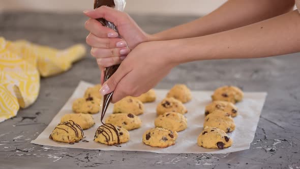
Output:
[[[86,37],[86,43],[92,46],[91,54],[97,59],[102,74],[103,67],[120,64],[132,49],[149,39],[149,36],[124,12],[102,6],[95,10],[84,11],[84,14],[90,17],[85,22],[85,28],[90,32]],[[97,18],[113,22],[119,35],[103,26],[96,20]]]

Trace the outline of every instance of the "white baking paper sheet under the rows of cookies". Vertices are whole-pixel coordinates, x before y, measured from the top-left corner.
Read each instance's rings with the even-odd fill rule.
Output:
[[[192,91],[192,101],[185,104],[188,109],[188,113],[185,116],[188,119],[188,128],[184,131],[178,132],[178,138],[176,144],[168,148],[154,148],[142,143],[143,133],[154,128],[154,120],[156,116],[157,104],[165,98],[168,90],[155,90],[157,94],[157,100],[153,103],[145,103],[145,112],[139,117],[142,120],[142,126],[139,129],[129,131],[130,140],[128,143],[122,144],[122,147],[107,146],[94,142],[94,135],[97,128],[101,125],[100,113],[93,115],[96,122],[95,126],[84,130],[84,139],[88,140],[88,143],[80,141],[74,145],[67,143],[54,142],[49,139],[49,135],[56,125],[60,122],[61,117],[65,114],[72,114],[72,103],[75,99],[83,97],[85,89],[93,86],[91,83],[81,81],[74,91],[71,98],[63,106],[63,108],[57,113],[47,128],[31,143],[54,146],[54,147],[68,147],[68,148],[80,148],[91,150],[115,150],[115,151],[146,151],[155,153],[230,153],[235,151],[246,150],[250,148],[259,120],[260,112],[263,107],[266,93],[261,92],[245,92],[245,98],[242,102],[237,103],[239,115],[234,118],[235,130],[228,135],[233,139],[233,145],[223,150],[219,149],[205,149],[197,145],[197,137],[203,129],[204,121],[204,109],[205,105],[211,102],[212,91]],[[110,104],[106,112],[105,118],[112,112],[113,104]]]

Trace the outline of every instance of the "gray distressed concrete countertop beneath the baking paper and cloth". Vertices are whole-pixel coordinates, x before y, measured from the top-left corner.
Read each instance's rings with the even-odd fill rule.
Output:
[[[196,17],[133,16],[147,33]],[[0,14],[0,36],[64,48],[85,43],[86,17],[81,14]],[[88,48],[89,49],[89,48]],[[155,154],[99,151],[31,144],[71,96],[80,80],[99,81],[89,56],[66,73],[41,79],[40,95],[18,116],[0,123],[0,168],[299,168],[300,56],[202,61],[174,68],[157,86],[186,83],[193,90],[236,85],[244,91],[268,92],[249,150],[229,154]],[[202,110],[199,110],[202,113]]]

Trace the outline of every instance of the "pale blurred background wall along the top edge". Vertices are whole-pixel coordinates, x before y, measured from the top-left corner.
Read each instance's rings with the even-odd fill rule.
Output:
[[[94,0],[0,0],[1,11],[82,12],[93,8]],[[127,0],[130,14],[205,15],[226,0]]]

